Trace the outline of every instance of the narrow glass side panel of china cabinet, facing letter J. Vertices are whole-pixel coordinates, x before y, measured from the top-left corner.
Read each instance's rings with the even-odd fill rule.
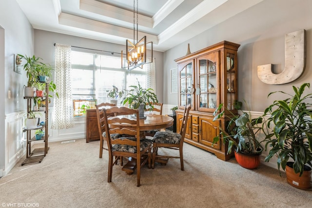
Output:
[[[235,57],[234,54],[227,53],[226,55],[226,92],[227,92],[227,107],[228,110],[234,110],[235,94],[236,94],[236,79],[235,79]]]

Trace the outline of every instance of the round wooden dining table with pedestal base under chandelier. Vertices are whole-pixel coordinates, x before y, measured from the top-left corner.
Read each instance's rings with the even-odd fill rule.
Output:
[[[145,118],[140,119],[140,133],[145,137],[144,132],[155,129],[165,129],[174,124],[174,118],[167,115],[159,114],[145,114]],[[118,115],[118,117],[126,117],[129,119],[136,119],[133,115]],[[113,117],[110,117],[113,118]],[[108,118],[108,119],[110,119]],[[113,123],[110,124],[110,128],[126,127],[130,130],[136,130],[136,124],[124,124],[124,123]],[[147,157],[147,155],[143,155]],[[141,158],[144,161],[144,158]],[[137,169],[137,160],[131,157],[128,158],[128,162],[122,167],[121,170],[126,171],[128,175],[131,175]]]

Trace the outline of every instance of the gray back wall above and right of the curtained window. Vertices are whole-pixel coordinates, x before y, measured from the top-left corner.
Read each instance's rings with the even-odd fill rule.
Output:
[[[91,48],[103,51],[120,53],[125,49],[124,45],[103,42],[87,38],[63,35],[43,30],[35,29],[35,55],[43,58],[44,62],[54,65],[54,43]],[[110,53],[109,53],[110,55]],[[120,56],[120,55],[117,55]],[[156,61],[156,83],[162,83],[163,78],[163,53],[154,51],[153,56]],[[163,102],[163,85],[156,84],[156,94],[159,102]]]

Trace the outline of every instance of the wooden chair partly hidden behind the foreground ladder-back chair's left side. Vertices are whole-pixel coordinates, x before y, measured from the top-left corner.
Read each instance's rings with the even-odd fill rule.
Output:
[[[104,113],[103,108],[116,106],[115,103],[101,103],[96,105],[97,109],[97,118],[98,118],[98,133],[99,133],[99,158],[102,158],[103,150],[108,150],[107,147],[104,147],[104,141],[106,141],[106,133],[104,127]],[[117,136],[117,135],[116,135]]]

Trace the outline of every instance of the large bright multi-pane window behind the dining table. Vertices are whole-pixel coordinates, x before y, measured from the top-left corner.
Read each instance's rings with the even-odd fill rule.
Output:
[[[72,90],[74,116],[84,116],[85,110],[95,108],[95,104],[110,102],[107,92],[115,85],[119,91],[131,85],[145,86],[145,69],[127,71],[120,68],[121,57],[105,56],[72,51]],[[122,98],[118,97],[118,105]]]

